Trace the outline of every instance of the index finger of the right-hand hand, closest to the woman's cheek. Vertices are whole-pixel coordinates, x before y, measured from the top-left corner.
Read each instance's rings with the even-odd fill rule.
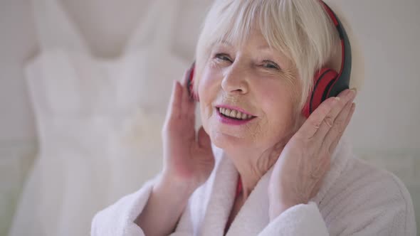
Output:
[[[331,112],[331,109],[340,101],[340,97],[330,97],[320,104],[315,111],[310,114],[308,119],[303,123],[297,134],[303,135],[307,139],[313,139],[317,130],[320,128],[322,121]]]

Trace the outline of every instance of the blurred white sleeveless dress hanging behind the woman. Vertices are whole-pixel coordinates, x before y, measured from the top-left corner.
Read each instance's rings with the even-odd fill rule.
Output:
[[[39,154],[10,236],[89,235],[93,215],[162,166],[177,1],[152,1],[120,58],[95,58],[58,0],[32,0],[41,51],[26,65]]]

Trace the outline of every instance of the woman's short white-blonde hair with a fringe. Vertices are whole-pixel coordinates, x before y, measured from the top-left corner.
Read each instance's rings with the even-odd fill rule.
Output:
[[[226,40],[241,44],[258,27],[268,45],[291,60],[298,71],[302,109],[313,77],[336,53],[337,29],[320,0],[216,0],[207,14],[196,47],[197,91],[211,45]]]

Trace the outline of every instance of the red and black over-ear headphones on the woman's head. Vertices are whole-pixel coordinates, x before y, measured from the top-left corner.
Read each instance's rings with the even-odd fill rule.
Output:
[[[337,31],[340,35],[342,62],[339,73],[331,68],[321,68],[315,73],[313,90],[310,92],[310,96],[302,109],[303,115],[307,118],[323,101],[327,100],[328,97],[336,97],[340,92],[349,88],[350,73],[352,70],[352,51],[345,28],[342,26],[342,23],[332,9],[330,9],[325,2],[321,1],[321,3],[332,19],[332,22],[335,24],[335,27],[337,27]],[[199,96],[193,90],[194,66],[195,63],[191,65],[191,69],[187,75],[189,77],[187,88],[190,96],[194,100],[199,101]]]

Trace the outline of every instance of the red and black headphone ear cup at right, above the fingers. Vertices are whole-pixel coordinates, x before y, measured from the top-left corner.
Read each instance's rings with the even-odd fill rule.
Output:
[[[308,118],[317,107],[330,97],[330,90],[337,80],[338,73],[331,68],[321,68],[315,73],[314,86],[308,100],[303,107],[302,113]]]

